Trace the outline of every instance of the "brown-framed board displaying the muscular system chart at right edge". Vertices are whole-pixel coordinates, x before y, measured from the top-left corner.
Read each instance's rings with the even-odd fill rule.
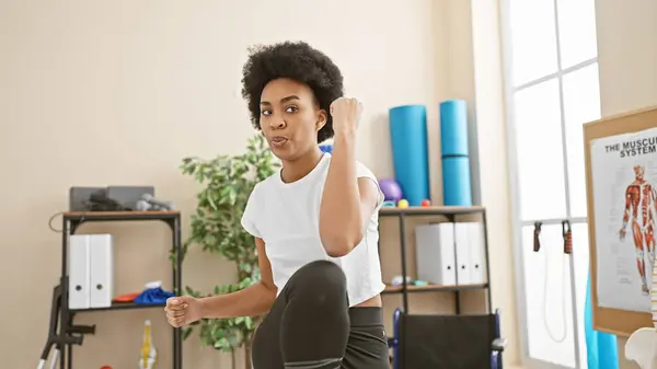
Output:
[[[655,161],[657,158],[657,146],[652,145],[650,147],[642,147],[638,148],[638,152],[626,151],[621,153],[623,150],[632,150],[631,147],[626,146],[624,142],[631,141],[620,141],[627,137],[632,136],[623,136],[623,135],[644,135],[644,132],[648,132],[653,135],[650,129],[657,128],[657,106],[644,108],[641,111],[629,112],[621,115],[615,115],[607,118],[602,118],[596,122],[587,123],[584,125],[584,157],[585,157],[585,170],[586,170],[586,191],[587,191],[587,208],[588,208],[588,231],[589,231],[589,253],[590,253],[590,273],[591,273],[591,305],[592,305],[592,315],[593,315],[593,328],[601,332],[612,333],[619,336],[630,336],[634,331],[641,327],[652,326],[652,314],[650,314],[650,305],[649,305],[649,296],[646,296],[643,291],[642,282],[641,282],[641,274],[637,272],[639,268],[637,266],[636,261],[638,257],[632,256],[631,258],[627,253],[635,252],[635,238],[633,237],[632,229],[632,218],[630,220],[629,226],[625,228],[625,238],[616,242],[615,239],[611,240],[614,235],[615,223],[618,223],[619,233],[621,234],[620,229],[622,229],[622,223],[624,221],[624,214],[627,211],[626,207],[626,197],[629,196],[626,193],[626,188],[629,188],[629,184],[633,182],[629,182],[623,177],[622,180],[606,180],[609,173],[615,173],[619,171],[625,171],[629,173],[623,173],[624,176],[627,175],[636,175],[636,168],[639,164],[635,164],[637,160],[634,157],[642,158],[652,158],[650,162]],[[647,134],[646,134],[647,135]],[[657,137],[650,136],[650,137]],[[603,142],[608,139],[608,142],[612,142],[614,139],[619,139],[618,145],[607,145],[606,150],[600,151],[600,142]],[[634,142],[634,141],[633,141]],[[647,142],[644,140],[644,142]],[[609,157],[601,157],[600,152],[610,153]],[[633,157],[633,158],[630,158]],[[609,158],[609,162],[606,162]],[[614,165],[620,162],[618,158],[630,158],[626,161],[626,168],[622,168],[621,170],[614,171]],[[647,160],[647,159],[646,159]],[[634,165],[634,166],[632,166]],[[641,164],[643,165],[643,164]],[[653,164],[650,164],[653,165]],[[618,166],[618,165],[616,165]],[[611,169],[610,169],[611,168]],[[642,166],[643,168],[643,166]],[[597,171],[598,173],[593,173]],[[604,172],[604,174],[600,174],[599,172]],[[647,173],[647,172],[646,172]],[[653,171],[653,173],[657,173],[657,169]],[[618,174],[615,175],[619,176]],[[646,175],[647,177],[647,175]],[[616,181],[619,183],[622,182],[622,185],[615,185],[612,181]],[[649,181],[649,180],[648,180]],[[600,183],[603,182],[603,183]],[[598,185],[597,185],[598,183]],[[613,185],[609,185],[612,183]],[[607,188],[603,187],[613,187],[614,194],[609,196],[612,199],[606,198],[604,194]],[[657,187],[657,183],[655,183]],[[656,188],[657,189],[657,188]],[[602,195],[601,195],[602,194]],[[620,196],[619,196],[620,195]],[[616,198],[618,197],[618,198]],[[613,203],[613,211],[608,211],[608,208],[611,208],[611,204]],[[622,205],[620,204],[622,203]],[[621,209],[621,214],[616,209]],[[655,211],[655,205],[653,205]],[[615,212],[612,216],[609,214]],[[629,211],[632,215],[632,211]],[[596,221],[596,215],[598,215],[598,221]],[[604,217],[603,217],[604,216]],[[613,220],[609,220],[608,218],[613,218]],[[620,219],[620,221],[619,221]],[[655,219],[655,226],[657,226],[657,219]],[[607,234],[608,237],[602,238],[600,234]],[[657,227],[655,229],[655,237],[657,238]],[[597,240],[600,239],[600,240]],[[619,240],[621,240],[619,235]],[[612,243],[615,243],[615,246],[610,246]],[[618,244],[622,244],[622,246],[618,246]],[[631,245],[630,250],[627,250],[627,245]],[[615,251],[614,251],[615,247]],[[622,249],[619,251],[619,249]],[[610,251],[611,250],[611,251]],[[612,255],[616,257],[613,260],[613,263],[618,265],[609,264],[608,261],[611,256],[602,257],[601,254],[606,253],[606,255]],[[623,257],[618,257],[619,253],[624,253],[626,255]],[[624,262],[620,262],[624,260]],[[632,265],[632,262],[634,263]],[[621,277],[621,272],[624,270],[625,278],[629,280],[625,282],[626,288],[633,289],[631,293],[638,295],[635,299],[641,303],[638,308],[624,309],[620,308],[611,308],[614,302],[613,293],[610,293],[614,284],[618,282],[618,286],[621,286],[623,281],[620,281],[623,277]],[[604,272],[598,273],[599,270]],[[609,272],[607,272],[609,270]],[[650,287],[650,276],[653,274],[652,266],[649,263],[645,263],[645,276],[647,278],[647,286]],[[610,279],[612,278],[612,279]],[[601,280],[602,279],[602,280]],[[608,281],[612,280],[612,287],[608,287]],[[633,281],[630,281],[633,280]],[[639,280],[639,282],[636,282]],[[602,289],[598,289],[599,284],[601,282]],[[637,287],[638,286],[638,287]],[[625,287],[623,287],[625,288]],[[636,289],[638,288],[638,291]],[[619,289],[623,293],[626,292],[624,289]],[[599,293],[603,291],[603,293]],[[626,304],[626,299],[615,298],[618,305]],[[646,302],[647,301],[647,302]],[[601,303],[602,302],[602,303]],[[646,307],[647,304],[647,307]],[[635,304],[636,305],[636,304]],[[644,309],[645,308],[645,309]]]

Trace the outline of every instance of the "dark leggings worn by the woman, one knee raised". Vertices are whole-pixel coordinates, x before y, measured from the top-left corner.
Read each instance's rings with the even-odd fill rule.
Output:
[[[381,309],[348,307],[337,265],[301,267],[255,333],[254,369],[389,369]]]

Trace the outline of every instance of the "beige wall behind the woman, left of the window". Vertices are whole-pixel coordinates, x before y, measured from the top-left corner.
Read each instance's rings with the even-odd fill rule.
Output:
[[[285,5],[1,1],[0,160],[5,181],[0,251],[5,263],[0,288],[7,299],[0,308],[2,367],[34,366],[45,343],[61,240],[47,222],[66,209],[68,188],[152,184],[159,196],[188,215],[195,188],[177,170],[181,158],[239,152],[252,134],[239,96],[246,47],[299,38],[330,54],[343,68],[348,94],[365,101],[358,155],[377,175],[392,175],[388,108],[429,106],[436,198],[441,192],[437,103],[469,100],[473,123],[485,132],[475,142],[480,151],[491,153],[481,163],[481,177],[487,184],[482,199],[493,223],[493,299],[505,312],[507,362],[517,361],[508,186],[506,165],[499,166],[506,160],[503,153],[493,154],[505,147],[502,103],[476,99],[485,91],[500,92],[495,77],[498,50],[485,42],[498,42],[497,9],[485,1],[473,4],[336,0],[319,12],[301,0]],[[477,27],[472,14],[482,16],[485,7],[493,13]],[[475,62],[475,51],[489,62],[479,57]],[[487,77],[491,72],[493,78]],[[82,231],[116,234],[117,293],[140,289],[149,280],[170,280],[162,226]],[[198,288],[232,277],[224,264],[199,252],[185,267],[184,282]],[[81,314],[77,322],[97,324],[97,334],[76,348],[77,367],[134,366],[145,319],[153,321],[161,367],[170,367],[171,333],[159,310]],[[229,368],[229,360],[194,337],[185,342],[185,365]]]

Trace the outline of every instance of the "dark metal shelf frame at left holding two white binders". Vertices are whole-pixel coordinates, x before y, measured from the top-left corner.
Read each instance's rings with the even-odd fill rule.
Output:
[[[71,245],[70,235],[82,223],[88,222],[113,222],[113,221],[162,221],[172,232],[172,253],[175,255],[175,262],[172,266],[173,292],[181,295],[182,288],[182,240],[181,240],[181,215],[178,211],[92,211],[92,212],[64,212],[61,228],[61,276],[59,285],[53,292],[53,309],[50,312],[50,326],[48,342],[43,351],[47,358],[50,347],[55,346],[61,353],[60,369],[72,369],[72,346],[82,345],[84,335],[94,334],[95,325],[84,326],[74,325],[76,314],[83,312],[129,310],[129,309],[161,309],[163,304],[137,304],[137,303],[112,303],[102,308],[71,309],[69,307],[69,247]],[[72,256],[72,255],[71,255]],[[182,331],[173,328],[173,368],[182,369]]]

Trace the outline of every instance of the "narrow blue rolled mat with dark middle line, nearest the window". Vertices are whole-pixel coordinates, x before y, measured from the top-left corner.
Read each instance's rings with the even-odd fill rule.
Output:
[[[472,206],[468,105],[464,100],[440,103],[442,197],[447,206]]]

